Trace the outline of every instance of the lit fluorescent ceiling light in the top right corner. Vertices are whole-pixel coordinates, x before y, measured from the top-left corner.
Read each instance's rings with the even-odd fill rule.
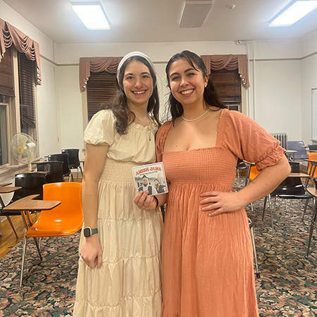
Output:
[[[290,26],[317,8],[317,0],[297,0],[278,13],[268,24],[270,27]]]

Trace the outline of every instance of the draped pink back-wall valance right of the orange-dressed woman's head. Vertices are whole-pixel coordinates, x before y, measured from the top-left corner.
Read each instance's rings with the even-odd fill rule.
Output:
[[[247,55],[201,55],[204,61],[208,75],[211,70],[227,70],[238,69],[242,84],[245,87],[250,87]]]

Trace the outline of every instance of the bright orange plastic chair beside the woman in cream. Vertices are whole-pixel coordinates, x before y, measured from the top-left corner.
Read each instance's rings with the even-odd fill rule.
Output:
[[[20,285],[23,280],[27,237],[62,237],[73,235],[82,228],[82,184],[80,182],[53,182],[43,185],[43,199],[61,201],[50,211],[41,211],[37,221],[23,237]],[[39,254],[42,261],[42,256]]]

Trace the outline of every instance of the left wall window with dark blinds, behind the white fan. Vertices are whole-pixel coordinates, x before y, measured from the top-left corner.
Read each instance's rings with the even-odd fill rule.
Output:
[[[36,138],[36,63],[13,46],[0,63],[0,166],[11,162],[10,140],[18,132]]]

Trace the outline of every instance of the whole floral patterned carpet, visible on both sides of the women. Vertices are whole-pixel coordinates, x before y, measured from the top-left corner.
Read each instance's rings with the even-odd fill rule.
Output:
[[[278,199],[274,206],[275,234],[267,210],[261,220],[263,199],[247,206],[254,223],[256,251],[261,278],[256,278],[261,317],[317,316],[317,238],[309,258],[305,258],[312,206],[302,221],[303,201],[285,202]],[[39,256],[29,240],[25,278],[20,290],[22,244],[17,244],[0,260],[0,316],[72,316],[77,275],[79,233],[70,237],[44,239]],[[194,316],[193,316],[194,317]],[[216,317],[216,316],[211,316]],[[228,316],[230,317],[230,316]]]

